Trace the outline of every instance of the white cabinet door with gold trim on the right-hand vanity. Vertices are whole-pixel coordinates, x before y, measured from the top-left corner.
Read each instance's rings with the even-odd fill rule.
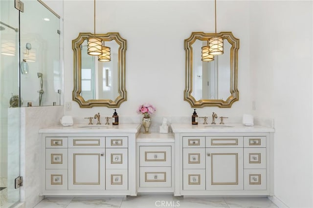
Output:
[[[243,190],[243,148],[206,149],[206,189]]]

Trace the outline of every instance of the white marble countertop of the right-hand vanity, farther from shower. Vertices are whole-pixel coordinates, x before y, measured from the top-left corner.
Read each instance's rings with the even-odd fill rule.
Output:
[[[274,132],[274,128],[269,128],[262,125],[253,125],[253,126],[246,126],[243,124],[237,123],[229,123],[224,125],[192,125],[192,124],[171,124],[172,131],[174,133],[205,133],[205,132]]]

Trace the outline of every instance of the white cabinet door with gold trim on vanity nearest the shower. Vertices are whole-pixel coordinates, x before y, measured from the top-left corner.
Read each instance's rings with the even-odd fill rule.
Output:
[[[105,149],[68,149],[68,189],[105,189]]]

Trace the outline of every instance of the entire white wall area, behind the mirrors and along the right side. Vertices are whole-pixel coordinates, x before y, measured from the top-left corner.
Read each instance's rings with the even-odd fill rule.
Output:
[[[92,3],[64,1],[65,102],[71,102],[73,90],[71,40],[93,31]],[[183,40],[193,31],[214,31],[213,6],[211,0],[97,0],[96,33],[119,32],[128,43],[128,101],[117,109],[120,117],[137,116],[145,102],[156,106],[156,116],[191,116],[183,101]],[[248,112],[275,119],[275,196],[289,207],[313,207],[312,8],[311,1],[219,1],[218,31],[240,39],[240,100],[228,109],[198,109],[200,116]],[[111,116],[113,110],[72,102],[65,114],[82,118],[96,112]]]

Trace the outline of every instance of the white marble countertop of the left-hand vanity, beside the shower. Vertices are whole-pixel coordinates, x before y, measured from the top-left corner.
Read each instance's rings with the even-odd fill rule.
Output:
[[[74,124],[71,126],[55,125],[39,129],[39,133],[137,133],[141,124],[119,125],[87,125]]]

